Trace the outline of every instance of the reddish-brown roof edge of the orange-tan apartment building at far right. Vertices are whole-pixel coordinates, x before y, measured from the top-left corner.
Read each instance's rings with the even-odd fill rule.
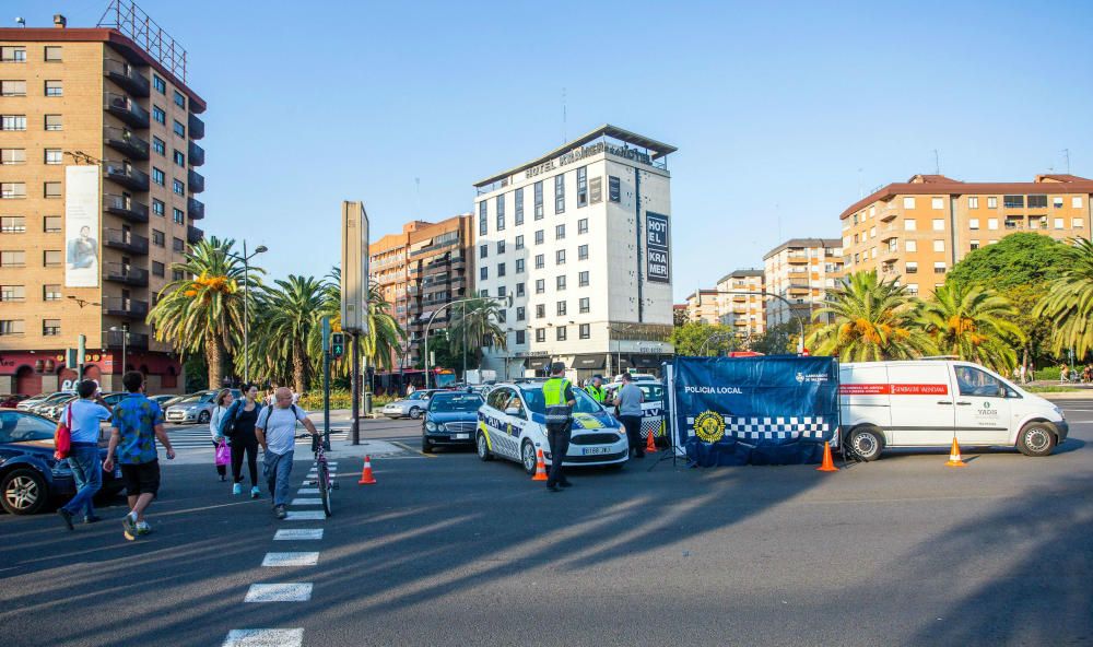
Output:
[[[1045,186],[1048,185],[1048,186]],[[869,207],[878,200],[890,200],[896,196],[952,196],[982,193],[1093,193],[1093,179],[1066,173],[1041,174],[1031,183],[966,183],[943,175],[915,175],[905,183],[893,183],[858,200],[839,214],[846,220],[851,214]]]

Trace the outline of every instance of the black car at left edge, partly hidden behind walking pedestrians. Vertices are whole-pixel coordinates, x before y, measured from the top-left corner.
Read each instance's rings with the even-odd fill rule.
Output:
[[[54,458],[50,420],[14,409],[0,409],[0,505],[13,515],[33,515],[50,502],[62,503],[75,494],[67,460]],[[99,449],[106,459],[106,449]],[[103,472],[99,494],[114,496],[125,485],[115,472]]]

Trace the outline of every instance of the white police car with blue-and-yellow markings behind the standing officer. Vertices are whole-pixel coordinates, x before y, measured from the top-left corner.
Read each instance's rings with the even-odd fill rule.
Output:
[[[626,430],[591,396],[573,387],[573,434],[564,466],[622,466],[630,458]],[[501,384],[479,409],[474,445],[479,458],[515,460],[529,474],[536,472],[536,450],[550,464],[554,457],[546,440],[546,417],[541,384]]]

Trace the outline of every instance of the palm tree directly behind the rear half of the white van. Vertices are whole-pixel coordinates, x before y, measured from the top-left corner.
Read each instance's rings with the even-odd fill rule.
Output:
[[[905,360],[932,352],[930,338],[916,325],[919,302],[895,282],[879,280],[877,271],[855,272],[827,296],[813,319],[831,322],[813,331],[808,345],[818,355],[837,355],[841,362]]]

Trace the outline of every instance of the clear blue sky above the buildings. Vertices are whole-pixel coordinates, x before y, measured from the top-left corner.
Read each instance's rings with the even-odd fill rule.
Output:
[[[105,4],[9,0],[2,20],[92,26]],[[274,277],[338,261],[342,199],[375,239],[604,122],[679,148],[677,301],[784,238],[837,237],[935,149],[959,179],[1065,172],[1063,149],[1093,176],[1089,2],[141,4],[209,103],[198,224],[268,245]]]

